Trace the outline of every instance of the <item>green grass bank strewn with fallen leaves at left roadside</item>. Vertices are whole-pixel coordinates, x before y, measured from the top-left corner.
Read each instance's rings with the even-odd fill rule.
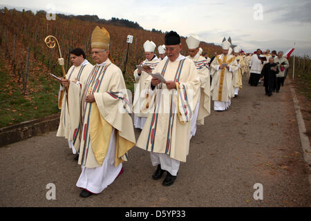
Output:
[[[56,81],[49,81],[44,76],[40,76],[37,81],[30,76],[28,89],[37,90],[24,96],[21,87],[10,81],[10,75],[0,61],[0,82],[4,85],[0,90],[0,128],[59,113],[59,84]]]

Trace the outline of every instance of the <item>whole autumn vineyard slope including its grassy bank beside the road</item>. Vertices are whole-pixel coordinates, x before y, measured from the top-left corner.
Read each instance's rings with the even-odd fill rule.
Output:
[[[75,17],[65,19],[56,16],[55,20],[48,20],[42,12],[34,14],[7,8],[0,10],[0,128],[59,112],[59,84],[48,75],[54,73],[61,76],[57,63],[58,53],[56,49],[47,48],[44,39],[47,35],[57,37],[65,59],[65,70],[71,66],[68,52],[77,47],[85,50],[88,61],[94,64],[90,46],[95,26],[104,26],[109,31],[111,55],[122,71],[126,57],[126,37],[133,35],[124,73],[126,86],[133,90],[133,70],[136,64],[144,60],[144,41],[152,40],[157,46],[164,44],[163,33],[82,21]],[[187,55],[185,38],[182,38],[182,44],[182,55]],[[208,55],[220,52],[220,47],[214,44],[202,42],[200,47]]]

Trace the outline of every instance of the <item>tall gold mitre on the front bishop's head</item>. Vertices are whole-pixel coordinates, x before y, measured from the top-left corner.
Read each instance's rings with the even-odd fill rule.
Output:
[[[91,37],[91,48],[102,48],[109,50],[110,35],[105,28],[96,26]]]

